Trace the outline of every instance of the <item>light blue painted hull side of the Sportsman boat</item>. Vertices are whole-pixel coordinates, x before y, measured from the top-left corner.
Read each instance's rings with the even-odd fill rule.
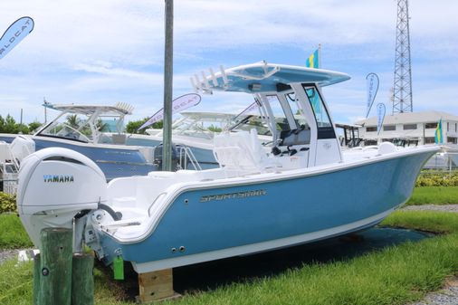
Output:
[[[431,155],[425,152],[259,184],[189,190],[177,196],[143,241],[118,243],[104,234],[101,243],[108,255],[104,261],[110,263],[116,249],[120,249],[125,261],[134,264],[186,259],[203,253],[219,253],[218,258],[223,258],[231,256],[224,255],[225,250],[237,247],[326,233],[296,242],[307,243],[362,230],[376,225],[406,202],[416,176]],[[256,190],[263,190],[265,195],[200,202],[205,195]],[[377,215],[381,216],[374,218]],[[333,231],[346,226],[347,231]],[[186,251],[171,251],[181,246]],[[172,266],[186,264],[174,263]]]

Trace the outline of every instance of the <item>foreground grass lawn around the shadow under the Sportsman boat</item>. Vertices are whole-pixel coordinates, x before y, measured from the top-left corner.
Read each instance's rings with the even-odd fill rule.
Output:
[[[279,275],[194,291],[163,304],[406,304],[438,290],[458,274],[458,214],[398,211],[382,224],[444,233],[338,262],[304,264]],[[0,304],[26,304],[32,296],[32,265],[0,265]],[[134,304],[110,274],[97,270],[96,304]]]

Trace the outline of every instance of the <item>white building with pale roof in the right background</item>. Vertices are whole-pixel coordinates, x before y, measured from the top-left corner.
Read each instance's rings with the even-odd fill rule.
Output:
[[[458,117],[441,111],[398,113],[386,116],[383,127],[377,133],[377,117],[356,122],[360,125],[359,137],[365,145],[393,142],[396,138],[412,139],[418,145],[434,143],[435,129],[442,119],[444,144],[457,144]]]

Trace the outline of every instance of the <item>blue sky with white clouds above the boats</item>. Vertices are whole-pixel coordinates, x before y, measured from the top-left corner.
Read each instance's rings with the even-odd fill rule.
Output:
[[[395,0],[175,0],[174,6],[174,97],[193,91],[194,74],[221,64],[303,66],[320,43],[322,68],[351,76],[323,89],[335,121],[364,118],[369,72],[380,79],[375,104],[391,113]],[[135,108],[128,120],[152,115],[163,106],[164,10],[164,1],[151,0],[2,1],[0,35],[22,16],[33,18],[34,29],[0,60],[0,115],[19,121],[24,110],[25,123],[43,122],[43,98],[122,101]],[[409,3],[415,111],[458,115],[456,12],[454,0]],[[237,113],[252,102],[246,93],[215,92],[192,110]]]

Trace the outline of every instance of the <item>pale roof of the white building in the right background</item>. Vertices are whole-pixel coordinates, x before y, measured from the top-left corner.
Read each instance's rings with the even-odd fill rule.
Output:
[[[458,116],[442,111],[405,112],[386,116],[383,125],[435,123],[439,119],[458,122]],[[377,126],[377,117],[361,119],[355,122],[362,126]]]

